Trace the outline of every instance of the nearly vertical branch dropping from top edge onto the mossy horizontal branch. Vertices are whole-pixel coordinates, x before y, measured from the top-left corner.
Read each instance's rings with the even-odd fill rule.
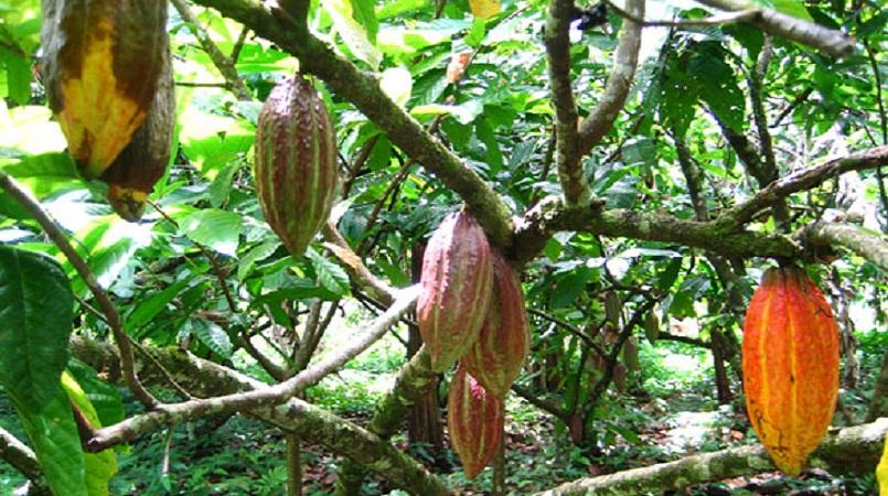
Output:
[[[577,103],[570,84],[570,37],[568,30],[577,8],[574,0],[552,0],[546,19],[546,55],[549,67],[552,103],[555,107],[555,163],[568,205],[586,204],[591,191],[582,170],[579,152]]]

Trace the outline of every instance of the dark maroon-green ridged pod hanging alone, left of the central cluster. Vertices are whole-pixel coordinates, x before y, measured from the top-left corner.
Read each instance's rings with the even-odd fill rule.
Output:
[[[320,95],[298,74],[271,90],[259,114],[254,173],[266,222],[302,256],[333,206],[336,143]]]

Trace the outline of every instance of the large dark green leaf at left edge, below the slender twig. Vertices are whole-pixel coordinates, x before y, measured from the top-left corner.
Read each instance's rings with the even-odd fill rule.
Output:
[[[0,246],[0,382],[30,411],[56,396],[73,320],[74,296],[58,263]]]

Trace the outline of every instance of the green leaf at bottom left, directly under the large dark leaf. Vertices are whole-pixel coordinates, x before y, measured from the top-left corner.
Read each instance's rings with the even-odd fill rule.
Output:
[[[61,373],[55,376],[52,399],[40,413],[14,398],[13,405],[53,494],[89,496],[81,435],[60,377]]]

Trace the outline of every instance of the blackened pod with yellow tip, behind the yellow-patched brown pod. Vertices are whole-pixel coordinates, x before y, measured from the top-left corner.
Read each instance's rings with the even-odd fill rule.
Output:
[[[163,45],[161,76],[148,117],[132,134],[132,141],[100,176],[101,181],[108,183],[111,207],[129,222],[141,218],[148,195],[170,162],[175,128],[175,95],[170,46],[165,39]]]

